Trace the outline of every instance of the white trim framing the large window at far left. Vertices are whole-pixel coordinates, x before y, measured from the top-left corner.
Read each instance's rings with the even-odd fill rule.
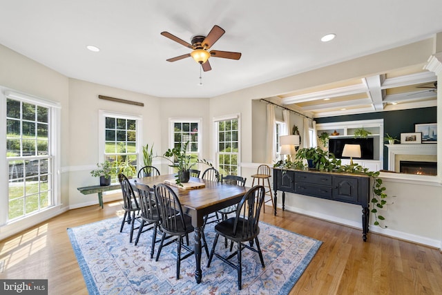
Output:
[[[41,222],[41,218],[37,216],[48,216],[48,211],[54,209],[55,207],[59,207],[61,205],[61,178],[60,178],[60,170],[61,170],[61,104],[59,102],[52,102],[48,99],[44,99],[41,97],[28,95],[25,93],[20,93],[18,91],[14,91],[10,88],[3,88],[0,86],[0,120],[1,122],[6,122],[6,99],[7,98],[18,99],[23,102],[28,102],[30,104],[35,104],[37,106],[44,106],[49,108],[49,131],[50,134],[50,151],[52,151],[52,205],[46,209],[42,209],[35,213],[31,213],[28,216],[24,216],[23,218],[18,218],[12,220],[11,222],[7,222],[8,220],[8,165],[6,164],[6,128],[1,128],[0,130],[0,154],[3,155],[0,160],[0,165],[3,169],[0,169],[0,178],[3,179],[6,183],[1,185],[3,189],[0,189],[0,196],[4,196],[4,198],[0,199],[0,227],[6,226],[6,229],[2,229],[1,233],[6,233],[10,231],[9,225],[15,224],[17,225],[17,229],[23,227],[23,224],[32,223],[29,220],[36,220],[36,222]],[[53,121],[53,122],[52,122]],[[10,231],[14,232],[14,231]],[[0,234],[0,238],[1,238]]]

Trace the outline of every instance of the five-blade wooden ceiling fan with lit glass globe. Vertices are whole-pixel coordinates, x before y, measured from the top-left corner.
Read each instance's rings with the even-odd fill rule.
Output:
[[[192,44],[172,35],[170,32],[162,32],[161,35],[167,37],[179,44],[186,46],[187,48],[191,48],[191,53],[186,53],[185,55],[180,55],[177,57],[172,57],[170,59],[166,59],[166,61],[177,61],[180,59],[184,59],[186,57],[192,57],[195,59],[198,64],[201,64],[204,72],[211,70],[211,66],[209,64],[209,57],[221,57],[224,59],[240,59],[241,53],[232,53],[230,51],[221,51],[221,50],[211,50],[208,51],[213,44],[215,44],[218,39],[226,32],[220,26],[213,26],[212,30],[209,32],[207,36],[194,36],[191,39]]]

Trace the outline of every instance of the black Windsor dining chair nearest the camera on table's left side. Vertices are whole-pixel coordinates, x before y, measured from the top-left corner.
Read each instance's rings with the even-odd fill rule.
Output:
[[[177,195],[167,184],[158,184],[155,186],[155,195],[157,196],[157,207],[160,210],[160,229],[162,230],[162,237],[160,247],[157,251],[155,261],[160,258],[161,250],[164,246],[177,243],[177,280],[180,278],[180,264],[181,260],[188,258],[194,254],[193,249],[189,247],[189,234],[194,230],[192,226],[192,219],[182,211],[180,200]],[[170,240],[164,244],[167,236],[176,236],[176,239]],[[183,237],[186,237],[186,243],[183,242]],[[209,256],[209,249],[207,249],[206,238],[204,232],[202,233],[202,240],[204,242],[204,249],[207,256]],[[184,256],[181,255],[181,248],[188,251]]]

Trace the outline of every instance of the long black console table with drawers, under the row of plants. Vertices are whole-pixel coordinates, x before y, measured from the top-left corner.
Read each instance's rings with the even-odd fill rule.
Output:
[[[363,240],[367,240],[369,218],[369,176],[273,168],[275,204],[277,192],[282,191],[282,211],[285,209],[285,193],[359,204],[362,206]],[[274,215],[276,215],[276,206]]]

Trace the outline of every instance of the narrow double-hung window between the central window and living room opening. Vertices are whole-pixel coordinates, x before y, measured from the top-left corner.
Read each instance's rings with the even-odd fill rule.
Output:
[[[240,117],[215,118],[218,170],[222,175],[240,175]]]

